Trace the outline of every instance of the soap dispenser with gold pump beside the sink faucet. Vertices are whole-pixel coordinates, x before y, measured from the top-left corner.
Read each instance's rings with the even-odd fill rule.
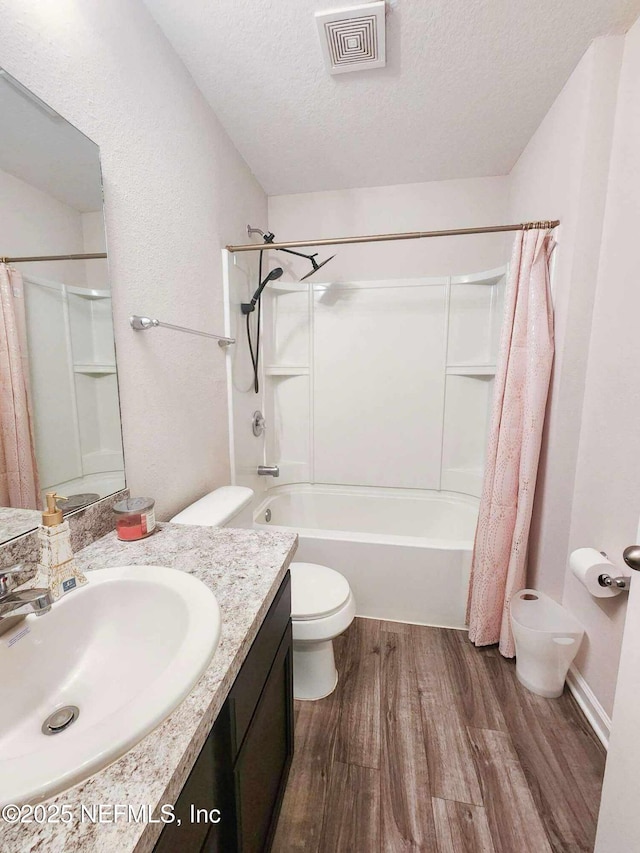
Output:
[[[64,520],[62,510],[56,503],[56,500],[66,498],[55,492],[47,492],[46,500],[47,508],[42,513],[42,524],[38,528],[40,562],[35,585],[48,587],[55,601],[87,583],[87,578],[73,559],[69,522]]]

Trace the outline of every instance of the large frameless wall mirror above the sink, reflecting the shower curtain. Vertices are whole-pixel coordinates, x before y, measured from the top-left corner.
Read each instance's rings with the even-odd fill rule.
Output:
[[[2,69],[0,114],[5,542],[37,526],[45,492],[70,512],[125,476],[98,146]]]

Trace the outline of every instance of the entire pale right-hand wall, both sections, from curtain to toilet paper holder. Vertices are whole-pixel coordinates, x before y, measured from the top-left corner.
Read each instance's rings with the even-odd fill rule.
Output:
[[[640,121],[633,102],[639,65],[637,24],[626,39],[596,41],[511,176],[513,217],[562,220],[554,281],[556,361],[530,583],[562,600],[584,625],[576,667],[607,714],[626,599],[592,598],[567,562],[573,549],[592,546],[622,565],[622,549],[634,539],[640,514],[640,350],[633,328],[639,294],[631,284],[640,193]]]

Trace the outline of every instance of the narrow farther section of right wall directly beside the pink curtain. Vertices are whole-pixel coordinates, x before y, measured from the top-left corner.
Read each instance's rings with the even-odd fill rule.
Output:
[[[558,218],[556,357],[529,583],[562,596],[622,37],[591,46],[511,173],[510,216]]]

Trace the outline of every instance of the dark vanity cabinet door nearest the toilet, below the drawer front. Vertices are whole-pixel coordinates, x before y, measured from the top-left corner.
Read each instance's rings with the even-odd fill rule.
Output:
[[[241,853],[269,849],[292,756],[293,650],[289,625],[234,768]]]

